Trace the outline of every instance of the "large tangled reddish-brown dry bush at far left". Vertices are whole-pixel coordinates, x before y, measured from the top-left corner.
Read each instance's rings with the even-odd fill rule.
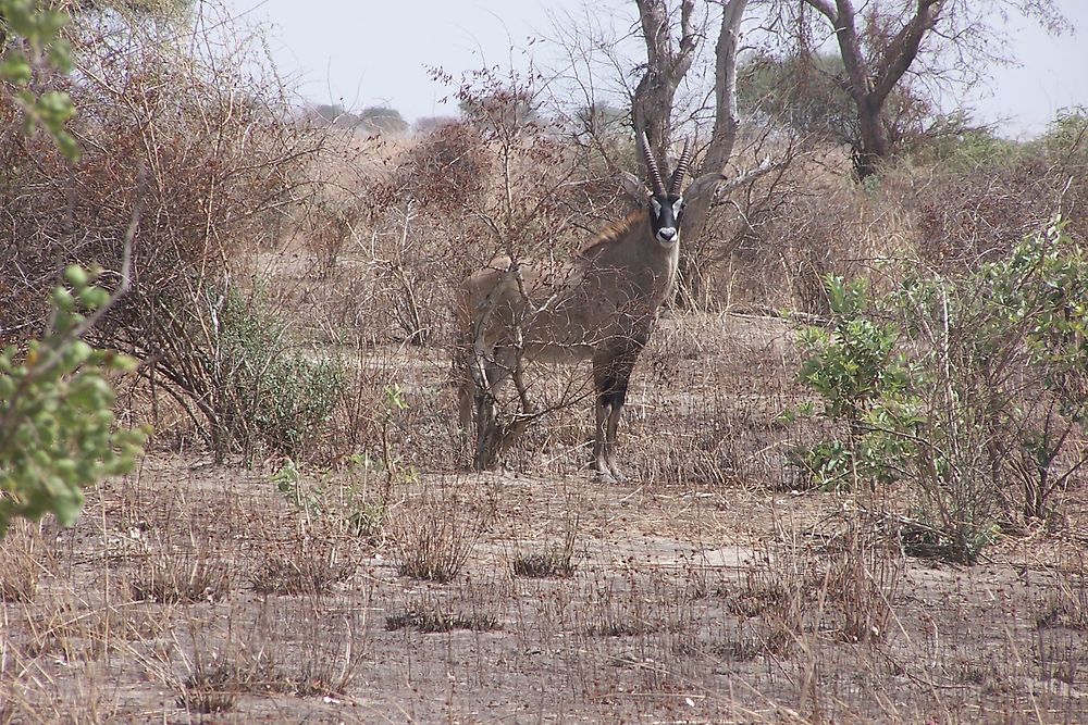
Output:
[[[222,453],[249,433],[235,429],[251,396],[232,389],[232,367],[254,363],[228,359],[220,313],[238,286],[239,252],[277,234],[321,139],[293,122],[274,79],[254,76],[249,39],[194,40],[221,32],[209,25],[173,35],[140,17],[77,16],[81,73],[53,83],[79,109],[82,159],[70,165],[40,135],[0,143],[10,170],[0,276],[16,300],[0,327],[40,329],[47,290],[70,263],[104,267],[113,285],[131,229],[132,290],[96,341],[146,361],[144,375],[202,421]]]

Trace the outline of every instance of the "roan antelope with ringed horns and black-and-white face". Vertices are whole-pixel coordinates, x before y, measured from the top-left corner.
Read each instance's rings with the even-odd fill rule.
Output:
[[[469,370],[461,380],[460,422],[467,435],[475,408],[477,467],[493,466],[518,433],[496,426],[496,393],[508,378],[530,413],[524,360],[592,360],[592,465],[604,480],[623,478],[616,434],[631,371],[676,283],[684,208],[680,187],[692,152],[689,141],[666,189],[645,133],[639,139],[650,175],[648,214],[633,212],[605,229],[559,272],[498,257],[465,279],[460,323]]]

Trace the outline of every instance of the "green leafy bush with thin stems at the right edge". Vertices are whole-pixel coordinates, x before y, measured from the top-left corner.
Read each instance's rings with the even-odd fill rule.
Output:
[[[790,461],[824,486],[910,484],[919,552],[956,561],[1018,515],[1049,516],[1088,462],[1074,445],[1088,423],[1088,259],[1064,225],[879,300],[827,285],[832,322],[802,333],[800,379],[845,436]]]

